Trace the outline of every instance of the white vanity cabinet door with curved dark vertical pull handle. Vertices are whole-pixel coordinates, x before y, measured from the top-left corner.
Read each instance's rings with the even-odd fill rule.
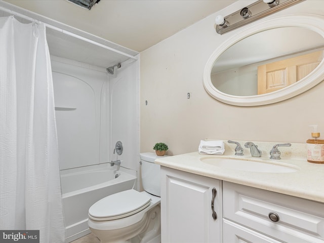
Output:
[[[161,167],[161,242],[222,242],[221,188],[222,181]]]

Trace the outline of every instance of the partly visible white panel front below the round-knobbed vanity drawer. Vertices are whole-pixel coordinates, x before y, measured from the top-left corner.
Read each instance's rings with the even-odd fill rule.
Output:
[[[223,243],[282,243],[254,230],[223,220]]]

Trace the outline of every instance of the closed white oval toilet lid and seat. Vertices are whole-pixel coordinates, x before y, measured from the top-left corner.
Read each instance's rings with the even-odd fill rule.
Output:
[[[125,218],[150,205],[151,198],[134,189],[106,196],[89,209],[89,217],[97,221]]]

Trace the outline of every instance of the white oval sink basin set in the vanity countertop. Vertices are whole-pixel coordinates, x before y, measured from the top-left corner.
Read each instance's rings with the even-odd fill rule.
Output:
[[[299,171],[298,168],[285,163],[266,163],[257,160],[246,160],[236,158],[223,158],[207,156],[200,158],[203,163],[236,171],[249,171],[261,173],[292,173]]]

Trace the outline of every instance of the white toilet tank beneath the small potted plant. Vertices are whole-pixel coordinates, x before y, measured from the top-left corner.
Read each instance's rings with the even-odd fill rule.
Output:
[[[140,153],[140,158],[142,163],[142,167],[141,167],[142,185],[144,190],[152,195],[161,196],[160,165],[154,164],[154,160],[156,158],[163,158],[167,156],[168,155],[157,156],[155,153],[151,153],[151,152]]]

